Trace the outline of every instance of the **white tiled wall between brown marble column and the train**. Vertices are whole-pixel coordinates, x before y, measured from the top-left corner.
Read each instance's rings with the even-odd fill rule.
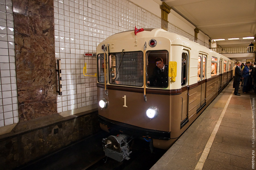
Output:
[[[61,59],[62,96],[57,112],[97,103],[96,46],[108,36],[137,28],[161,28],[161,18],[127,0],[54,0],[55,58]],[[93,74],[88,74],[93,75]]]

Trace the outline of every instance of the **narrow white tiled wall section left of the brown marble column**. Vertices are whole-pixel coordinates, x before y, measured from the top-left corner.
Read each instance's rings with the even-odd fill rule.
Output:
[[[12,0],[0,0],[0,127],[18,123]]]

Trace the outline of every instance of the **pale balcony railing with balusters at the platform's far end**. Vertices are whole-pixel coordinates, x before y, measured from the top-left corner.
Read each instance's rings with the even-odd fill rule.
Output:
[[[250,50],[251,47],[251,50]],[[243,47],[217,47],[217,48],[210,48],[211,50],[219,53],[219,54],[228,54],[228,53],[249,53],[255,52],[255,45],[254,46],[243,46]]]

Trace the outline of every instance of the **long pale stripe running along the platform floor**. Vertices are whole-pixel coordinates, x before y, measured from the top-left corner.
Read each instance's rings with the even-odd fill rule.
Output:
[[[225,112],[226,112],[226,110],[227,110],[227,108],[228,108],[230,99],[231,99],[231,97],[232,97],[233,94],[234,94],[234,89],[233,89],[232,93],[230,94],[230,96],[229,96],[229,98],[228,98],[228,101],[227,101],[227,103],[226,103],[226,105],[225,105],[223,111],[222,111],[221,114],[220,114],[219,120],[218,120],[218,122],[216,123],[216,125],[215,125],[215,127],[214,127],[214,129],[213,129],[213,131],[212,131],[212,134],[211,134],[211,136],[210,136],[209,139],[208,139],[207,144],[205,145],[205,149],[204,149],[204,151],[203,151],[203,153],[202,153],[202,155],[201,155],[199,161],[197,162],[197,165],[196,165],[196,167],[195,167],[195,170],[202,170],[202,169],[203,169],[203,167],[204,167],[204,165],[205,165],[205,161],[206,161],[206,159],[207,159],[207,157],[208,157],[208,155],[209,155],[210,149],[211,149],[211,147],[212,147],[212,143],[213,143],[213,141],[214,141],[214,138],[215,138],[215,136],[216,136],[216,133],[218,132],[218,129],[219,129],[219,127],[220,127],[220,123],[222,122],[222,119],[223,119],[224,114],[225,114]]]

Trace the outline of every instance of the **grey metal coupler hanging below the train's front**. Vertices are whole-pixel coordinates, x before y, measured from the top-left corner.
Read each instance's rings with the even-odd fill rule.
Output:
[[[129,136],[121,134],[103,139],[102,142],[104,142],[103,150],[105,155],[118,162],[122,162],[124,159],[129,160],[129,155],[132,151],[129,152],[128,143],[131,140],[127,143],[128,138]]]

